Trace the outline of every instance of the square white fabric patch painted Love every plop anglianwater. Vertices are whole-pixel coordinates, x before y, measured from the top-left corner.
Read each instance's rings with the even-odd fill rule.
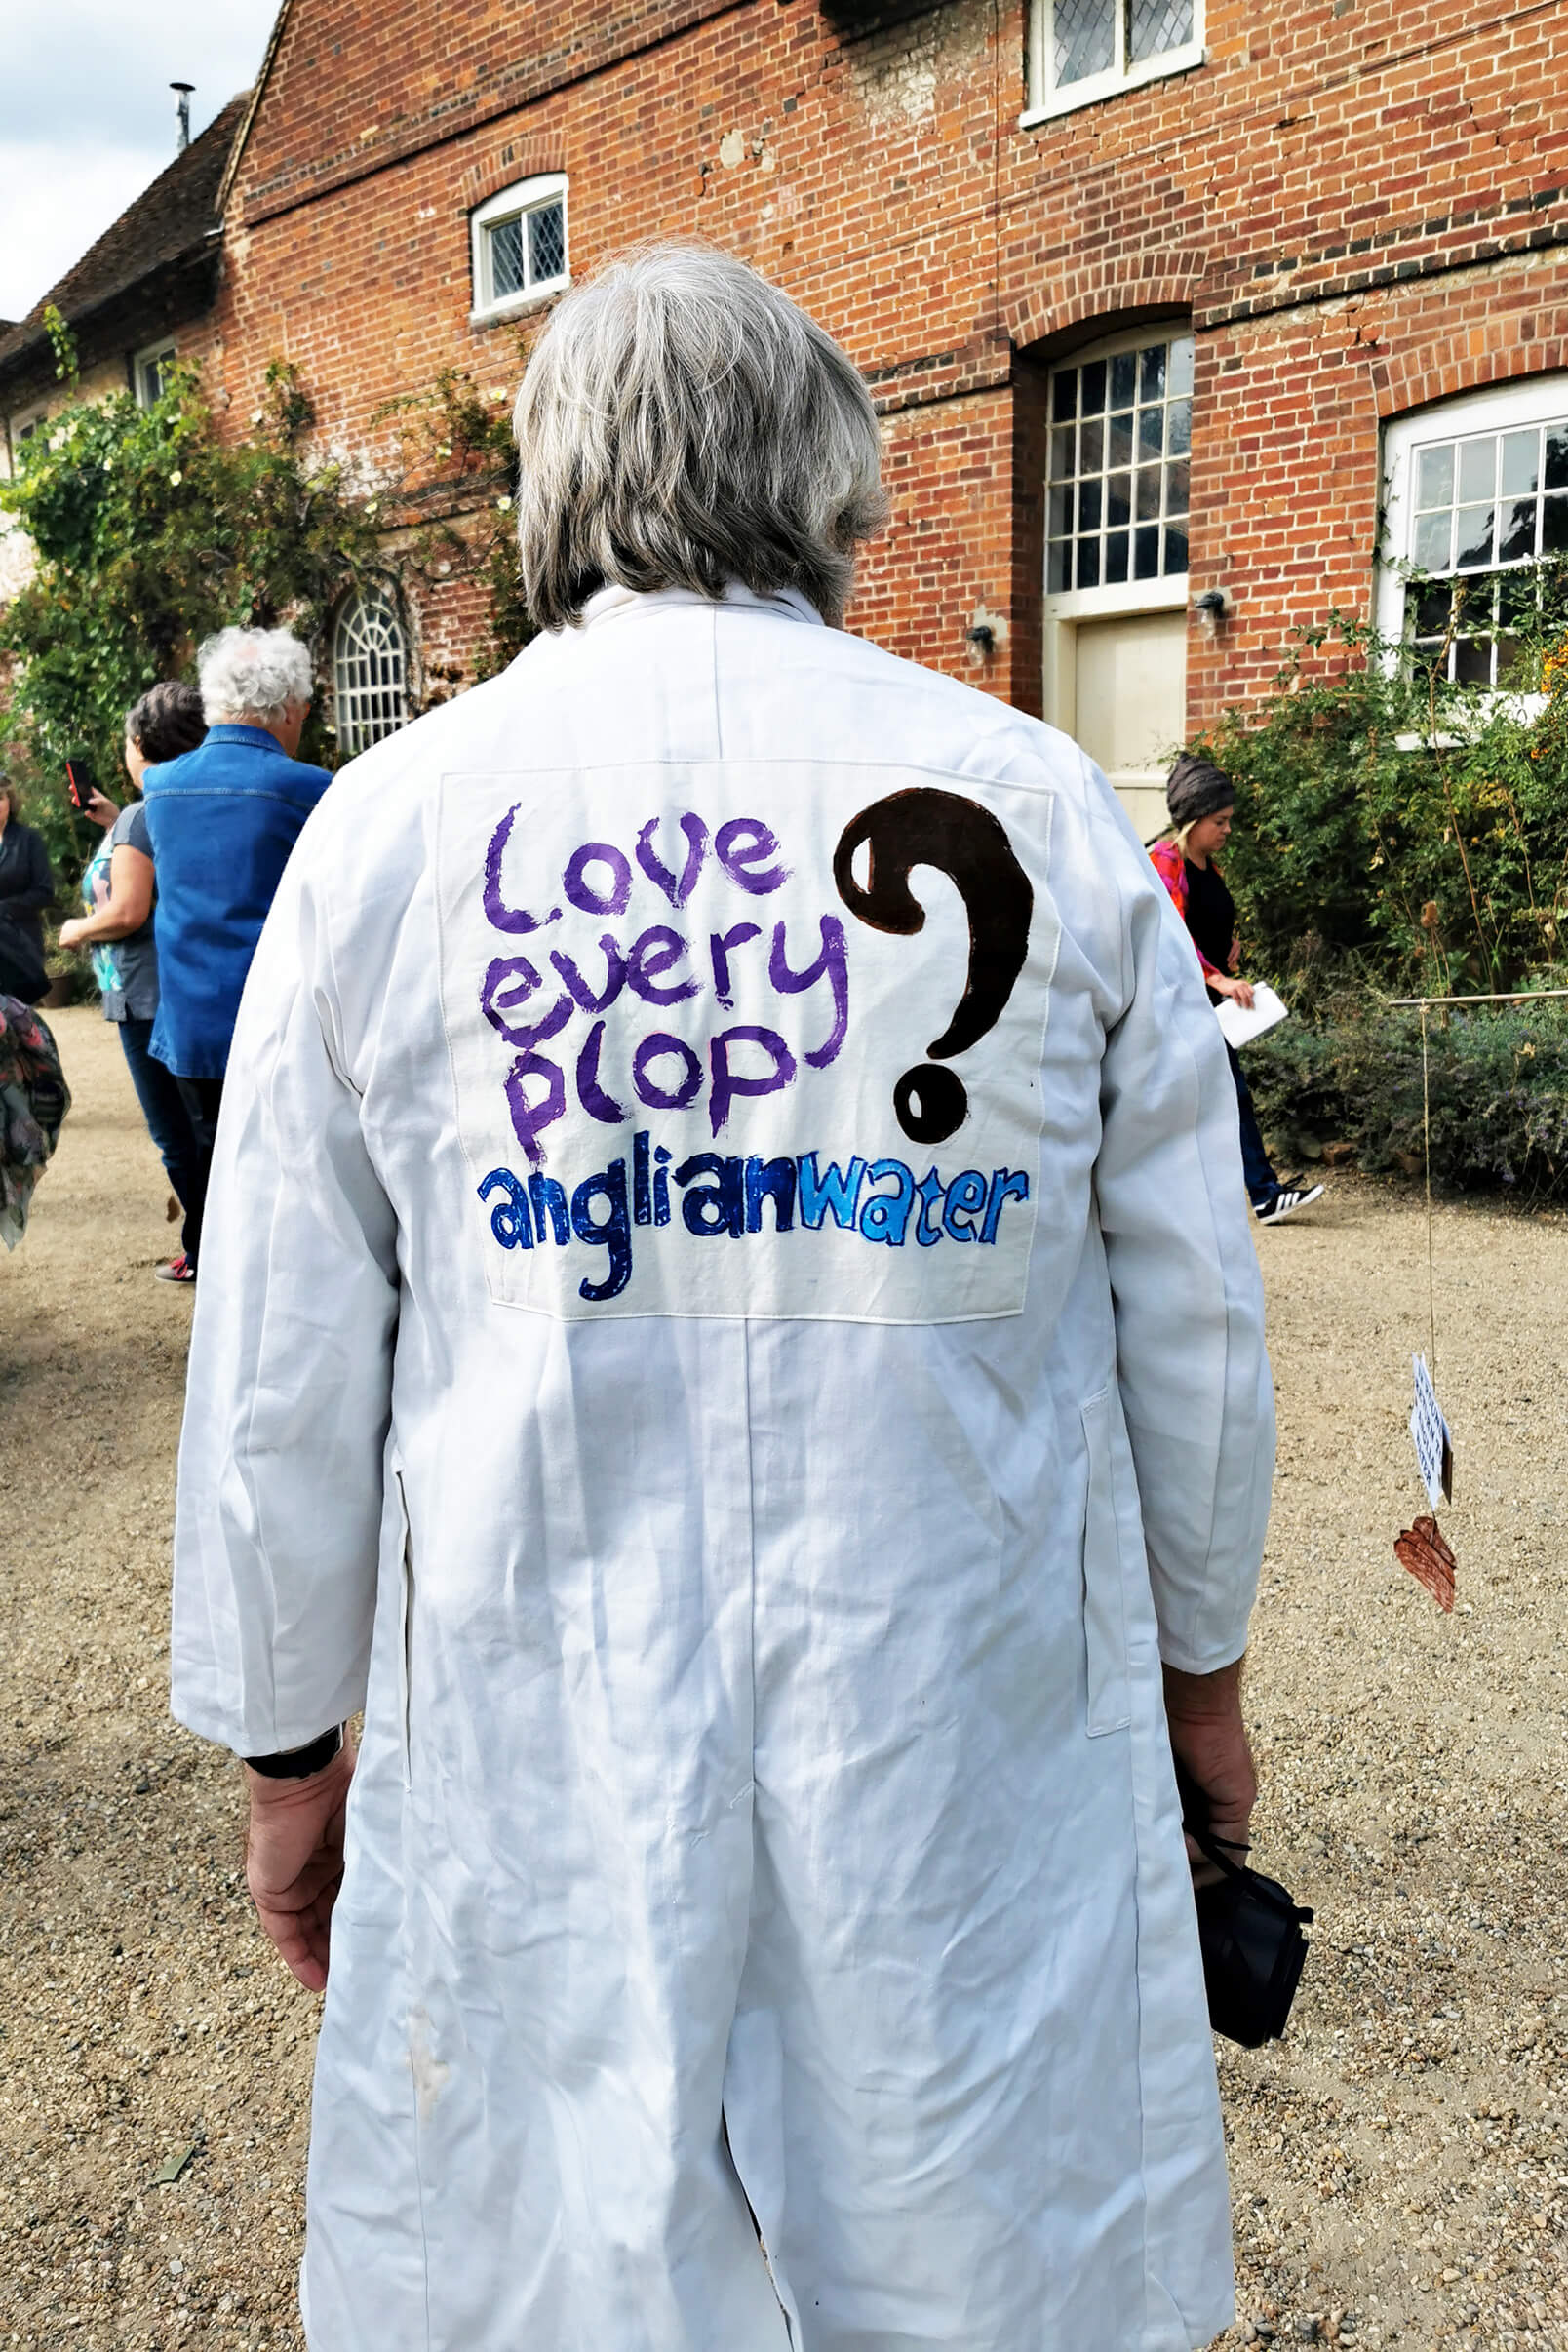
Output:
[[[1018,1315],[1051,804],[903,767],[444,776],[442,1011],[491,1298]]]

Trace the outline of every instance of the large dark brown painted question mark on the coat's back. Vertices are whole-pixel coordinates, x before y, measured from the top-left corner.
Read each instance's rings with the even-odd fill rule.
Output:
[[[870,847],[865,887],[851,861]],[[969,1117],[969,1091],[957,1070],[938,1068],[966,1054],[1001,1018],[1030,953],[1034,887],[1013,856],[1006,828],[978,800],[922,786],[889,793],[844,826],[832,854],[839,898],[875,931],[914,934],[926,910],[910,891],[910,868],[936,866],[959,889],[969,915],[969,976],[952,1021],[926,1047],[933,1061],[905,1070],[893,1087],[898,1124],[912,1143],[945,1143]]]

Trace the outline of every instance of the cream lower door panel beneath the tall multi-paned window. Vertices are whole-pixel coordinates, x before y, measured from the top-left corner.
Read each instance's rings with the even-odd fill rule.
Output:
[[[1074,626],[1074,734],[1152,842],[1166,830],[1166,776],[1187,734],[1187,614]]]

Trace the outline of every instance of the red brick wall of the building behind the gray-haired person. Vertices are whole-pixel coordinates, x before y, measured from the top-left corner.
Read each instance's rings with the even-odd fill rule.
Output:
[[[287,350],[355,452],[444,362],[510,388],[515,329],[468,325],[465,216],[567,169],[578,275],[701,235],[842,336],[893,496],[853,626],[1037,708],[1039,355],[1190,315],[1192,590],[1234,597],[1192,626],[1197,722],[1295,621],[1366,609],[1380,419],[1563,367],[1568,332],[1568,9],[1307,0],[1260,28],[1211,0],[1206,38],[1204,68],[1023,129],[1020,0],[858,40],[809,0],[294,0],[214,367],[244,416]],[[437,581],[430,642],[470,621]]]

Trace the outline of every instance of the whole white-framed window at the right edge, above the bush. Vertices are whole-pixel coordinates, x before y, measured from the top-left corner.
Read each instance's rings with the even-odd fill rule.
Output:
[[[1514,684],[1544,583],[1568,567],[1568,376],[1396,416],[1382,456],[1380,633],[1455,684]]]

